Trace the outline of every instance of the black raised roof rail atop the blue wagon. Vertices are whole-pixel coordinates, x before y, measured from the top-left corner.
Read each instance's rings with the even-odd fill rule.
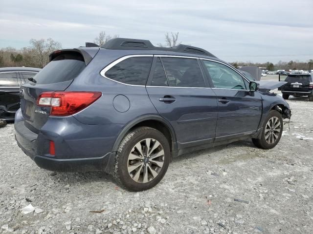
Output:
[[[175,47],[157,47],[154,46],[150,40],[141,40],[141,39],[128,39],[128,38],[114,38],[105,43],[102,48],[110,50],[162,50],[162,51],[173,51],[180,53],[189,53],[189,54],[201,54],[210,57],[215,57],[210,52],[201,49],[199,47],[191,45],[180,44]]]

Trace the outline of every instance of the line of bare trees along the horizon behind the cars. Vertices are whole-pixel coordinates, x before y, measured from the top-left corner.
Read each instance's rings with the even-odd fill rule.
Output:
[[[158,43],[161,47],[174,47],[179,45],[179,32],[165,33],[164,43]],[[108,40],[112,38],[119,38],[119,35],[111,36],[105,31],[101,31],[98,36],[94,38],[94,43],[102,46]],[[62,49],[60,42],[51,38],[48,39],[31,39],[28,47],[22,49],[16,49],[13,47],[6,47],[0,49],[0,67],[39,67],[43,68],[49,62],[49,54],[55,50]],[[308,62],[300,62],[298,60],[291,60],[289,62],[279,61],[277,63],[253,63],[247,62],[231,62],[231,64],[238,68],[239,66],[258,66],[266,68],[268,71],[274,71],[278,69],[284,70],[311,70],[313,69],[313,59]]]

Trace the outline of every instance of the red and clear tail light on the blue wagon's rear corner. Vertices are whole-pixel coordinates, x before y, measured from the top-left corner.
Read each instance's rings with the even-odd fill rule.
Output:
[[[73,115],[101,97],[101,92],[44,92],[37,98],[38,106],[51,107],[51,116]]]

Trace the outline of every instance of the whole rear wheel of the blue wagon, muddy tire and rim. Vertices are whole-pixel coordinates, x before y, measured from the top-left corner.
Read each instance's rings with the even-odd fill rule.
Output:
[[[148,144],[149,147],[146,147]],[[150,153],[149,148],[152,150]],[[139,127],[121,141],[115,156],[113,176],[121,187],[129,191],[151,189],[165,175],[170,157],[169,142],[161,132]]]

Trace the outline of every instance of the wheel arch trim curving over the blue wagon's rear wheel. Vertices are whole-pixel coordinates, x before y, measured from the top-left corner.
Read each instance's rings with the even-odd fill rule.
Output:
[[[126,124],[126,126],[122,129],[117,139],[115,140],[112,152],[116,152],[118,150],[120,142],[131,130],[133,130],[134,128],[143,127],[143,126],[152,127],[160,131],[169,141],[171,151],[177,149],[176,135],[175,135],[175,131],[172,125],[160,116],[149,115],[149,116],[139,117],[129,122],[128,124]]]

